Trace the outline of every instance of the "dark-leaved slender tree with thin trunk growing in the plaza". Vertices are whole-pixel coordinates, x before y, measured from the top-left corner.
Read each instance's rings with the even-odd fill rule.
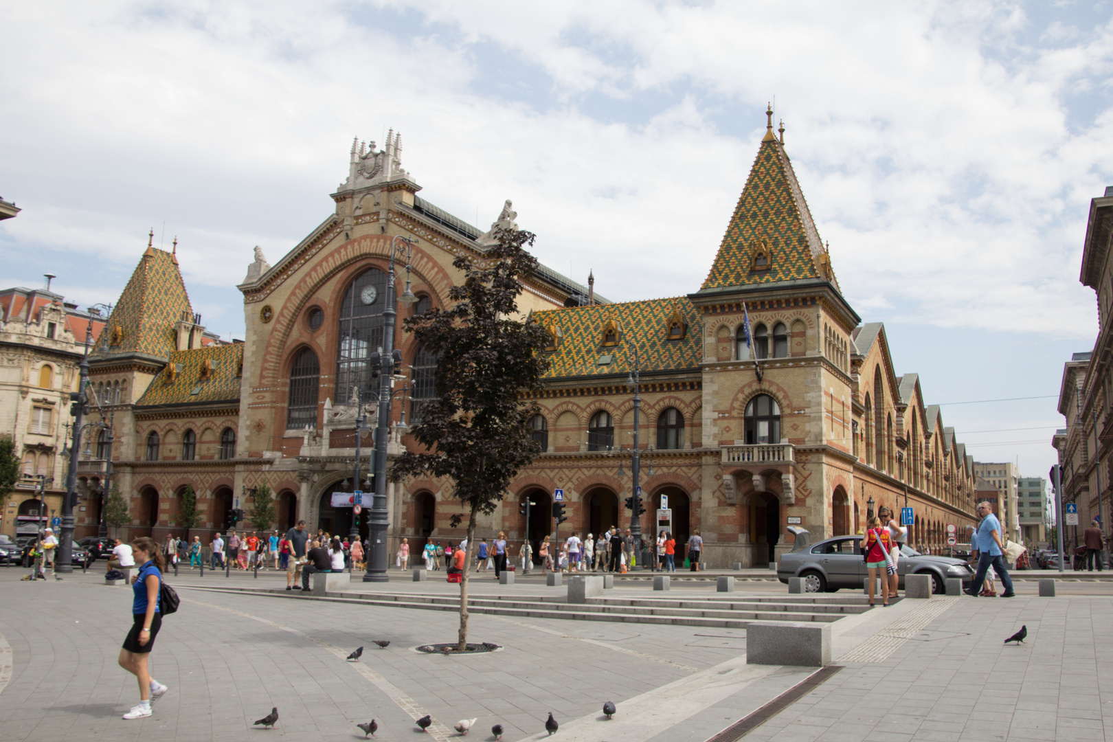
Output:
[[[405,453],[391,473],[395,481],[418,475],[449,477],[470,512],[467,560],[475,552],[475,522],[493,513],[518,472],[540,453],[530,418],[539,409],[522,402],[536,392],[548,368],[543,327],[518,316],[522,279],[536,269],[526,251],[528,231],[500,230],[498,247],[482,264],[470,256],[453,263],[464,274],[447,309],[407,317],[404,327],[437,357],[436,397],[421,409],[413,436],[429,453]],[[460,524],[454,516],[453,525]],[[460,637],[467,644],[467,570],[460,583]]]

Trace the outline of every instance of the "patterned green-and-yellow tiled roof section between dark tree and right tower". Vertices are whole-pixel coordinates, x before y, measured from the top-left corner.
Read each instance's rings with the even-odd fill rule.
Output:
[[[677,311],[686,330],[681,339],[670,340],[668,325]],[[533,319],[560,333],[556,349],[549,353],[545,378],[624,374],[631,368],[634,347],[643,372],[699,368],[700,319],[686,297],[546,309],[534,311]],[[603,345],[603,330],[610,321],[619,330],[617,346]],[[600,357],[607,355],[612,363],[599,365]]]

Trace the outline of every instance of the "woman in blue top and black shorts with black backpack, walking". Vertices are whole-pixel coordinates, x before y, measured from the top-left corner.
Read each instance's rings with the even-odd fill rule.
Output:
[[[142,536],[131,542],[139,574],[131,577],[134,600],[131,602],[131,631],[120,650],[120,666],[139,681],[139,705],[124,714],[125,719],[142,719],[150,715],[150,702],[166,693],[166,685],[147,672],[147,655],[155,647],[155,637],[162,625],[162,614],[158,605],[158,591],[162,586],[162,570],[166,557],[151,538]]]

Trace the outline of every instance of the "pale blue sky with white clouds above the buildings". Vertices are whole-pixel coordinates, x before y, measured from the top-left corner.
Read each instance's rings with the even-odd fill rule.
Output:
[[[420,8],[417,7],[420,4]],[[844,291],[981,461],[1046,475],[1113,184],[1109,2],[8,3],[0,284],[114,301],[155,230],[196,311],[332,210],[352,138],[422,196],[506,198],[608,298],[696,290],[774,102]],[[1037,397],[1012,402],[981,402]],[[976,404],[955,404],[976,403]]]

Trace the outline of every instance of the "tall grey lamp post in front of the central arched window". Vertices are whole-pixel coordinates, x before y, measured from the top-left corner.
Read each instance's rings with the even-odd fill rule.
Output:
[[[400,248],[398,243],[405,243],[406,248]],[[375,426],[375,494],[371,503],[371,518],[368,523],[368,558],[367,572],[363,575],[364,582],[388,582],[390,575],[386,572],[386,439],[391,432],[391,385],[394,375],[394,323],[397,317],[395,308],[394,291],[394,259],[402,249],[406,250],[406,288],[401,298],[406,306],[416,301],[417,297],[410,290],[410,270],[413,258],[413,246],[416,239],[397,235],[391,240],[391,254],[388,270],[386,274],[386,306],[383,309],[383,348],[377,354],[372,355],[372,363],[375,355],[378,356],[378,424]]]

